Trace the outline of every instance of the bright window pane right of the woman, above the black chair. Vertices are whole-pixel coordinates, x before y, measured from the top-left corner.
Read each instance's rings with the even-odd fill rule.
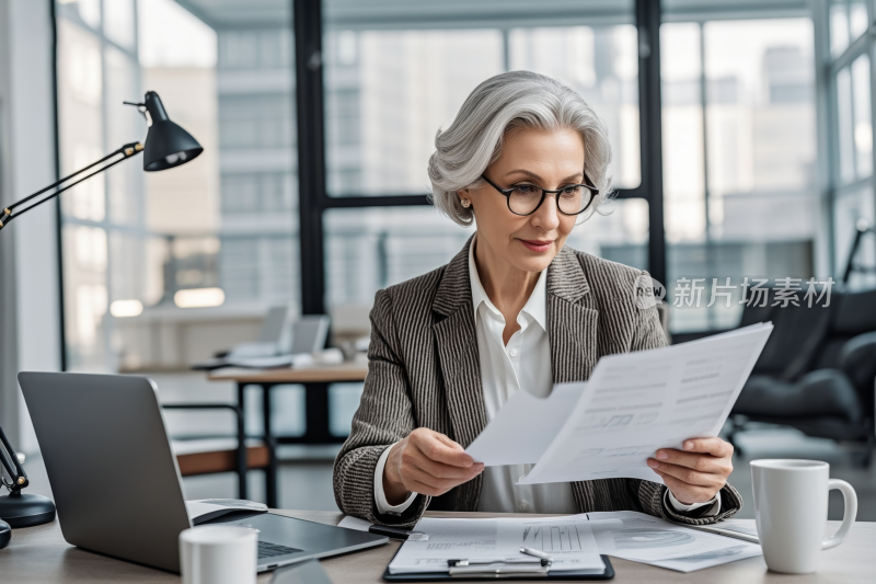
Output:
[[[814,260],[822,242],[812,38],[808,18],[661,27],[673,332],[736,327],[746,276],[774,285],[829,273]],[[727,278],[733,288],[713,288]],[[733,300],[713,304],[713,291]]]

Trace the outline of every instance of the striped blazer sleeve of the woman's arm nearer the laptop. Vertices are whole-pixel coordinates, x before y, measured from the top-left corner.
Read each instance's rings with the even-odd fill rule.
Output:
[[[429,499],[418,495],[401,515],[380,515],[374,502],[374,470],[380,455],[416,427],[404,363],[397,353],[392,298],[387,290],[374,297],[371,310],[368,376],[353,427],[334,463],[335,502],[347,515],[371,523],[414,525]]]

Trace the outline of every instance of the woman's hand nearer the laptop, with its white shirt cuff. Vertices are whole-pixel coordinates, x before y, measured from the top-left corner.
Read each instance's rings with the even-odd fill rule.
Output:
[[[383,467],[387,503],[400,505],[410,493],[442,495],[484,470],[465,449],[443,434],[417,428],[395,444]]]

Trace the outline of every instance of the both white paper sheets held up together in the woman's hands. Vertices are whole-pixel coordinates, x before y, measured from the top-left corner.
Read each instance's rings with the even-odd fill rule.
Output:
[[[465,449],[484,465],[532,465],[521,484],[609,478],[662,482],[647,458],[715,437],[771,323],[669,347],[608,355],[586,382],[546,399],[518,391]]]

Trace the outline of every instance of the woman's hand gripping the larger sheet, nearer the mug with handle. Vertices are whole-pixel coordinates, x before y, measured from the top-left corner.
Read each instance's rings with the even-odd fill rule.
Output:
[[[684,440],[683,448],[661,448],[655,458],[648,458],[648,466],[679,503],[712,501],[733,472],[733,446],[721,438],[691,438]]]

